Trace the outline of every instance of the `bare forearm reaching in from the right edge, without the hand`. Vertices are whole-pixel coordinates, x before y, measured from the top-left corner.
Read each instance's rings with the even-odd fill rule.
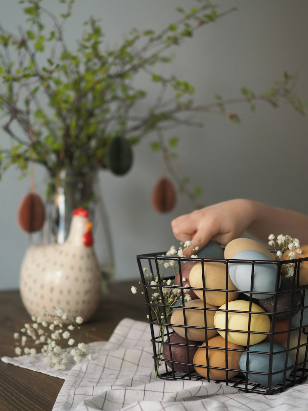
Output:
[[[247,200],[251,213],[251,224],[246,231],[259,240],[267,242],[269,234],[288,234],[308,244],[308,216],[300,212],[277,208],[257,201]]]

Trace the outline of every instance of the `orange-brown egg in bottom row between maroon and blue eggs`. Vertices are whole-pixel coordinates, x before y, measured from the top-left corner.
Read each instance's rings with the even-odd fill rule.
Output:
[[[193,358],[193,365],[195,371],[198,372],[202,377],[209,378],[211,380],[225,380],[226,379],[226,368],[228,368],[228,378],[233,377],[239,371],[234,371],[234,369],[239,368],[239,359],[241,358],[241,351],[228,351],[226,363],[226,349],[225,346],[228,346],[228,349],[244,350],[244,346],[233,344],[232,342],[226,342],[226,340],[217,335],[209,339],[207,346],[208,347],[217,347],[223,349],[215,348],[198,348],[195,356]],[[204,342],[202,346],[206,347]],[[208,352],[208,354],[207,354]],[[207,363],[207,355],[209,363]],[[209,365],[212,368],[203,368],[200,365]]]

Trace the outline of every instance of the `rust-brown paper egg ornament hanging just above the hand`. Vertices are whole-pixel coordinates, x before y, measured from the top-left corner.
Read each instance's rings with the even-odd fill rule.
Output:
[[[162,177],[156,182],[152,191],[151,202],[154,210],[158,212],[170,211],[175,206],[175,189],[168,178]]]

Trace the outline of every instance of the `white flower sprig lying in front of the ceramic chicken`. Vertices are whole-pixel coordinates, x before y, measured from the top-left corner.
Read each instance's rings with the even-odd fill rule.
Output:
[[[43,317],[46,316],[54,318],[53,322],[45,321]],[[14,332],[15,353],[18,356],[36,354],[40,351],[46,356],[46,363],[59,370],[66,369],[64,363],[69,355],[76,364],[80,363],[83,357],[92,358],[92,354],[88,352],[89,347],[83,342],[78,342],[86,332],[80,329],[82,317],[69,317],[62,308],[54,307],[53,313],[44,313],[42,317],[32,316],[31,319],[33,323],[26,323],[20,332]],[[64,343],[66,347],[63,346]],[[30,344],[30,347],[26,344]]]

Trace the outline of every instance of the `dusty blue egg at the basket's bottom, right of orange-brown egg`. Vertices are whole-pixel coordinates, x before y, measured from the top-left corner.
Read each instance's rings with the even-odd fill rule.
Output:
[[[284,376],[287,378],[290,376],[292,369],[288,369],[285,373],[285,368],[292,367],[293,360],[290,354],[287,359],[287,367],[285,367],[285,360],[287,353],[280,352],[285,351],[285,348],[280,344],[274,344],[273,353],[270,352],[269,342],[260,342],[259,344],[251,345],[248,351],[259,351],[258,353],[249,353],[248,357],[248,367],[247,367],[247,351],[241,355],[239,359],[239,367],[242,371],[248,370],[248,379],[254,381],[262,386],[269,386],[269,375],[268,374],[253,374],[253,372],[269,372],[269,359],[272,355],[273,362],[271,373],[281,371],[278,374],[271,375],[271,385],[283,383]],[[267,354],[262,354],[267,353]],[[277,353],[277,354],[276,354]]]

